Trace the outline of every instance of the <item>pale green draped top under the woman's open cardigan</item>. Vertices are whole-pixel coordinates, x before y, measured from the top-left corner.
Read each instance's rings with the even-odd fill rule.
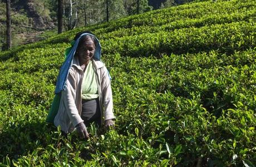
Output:
[[[82,99],[90,100],[99,97],[97,77],[92,61],[88,63],[82,80]]]

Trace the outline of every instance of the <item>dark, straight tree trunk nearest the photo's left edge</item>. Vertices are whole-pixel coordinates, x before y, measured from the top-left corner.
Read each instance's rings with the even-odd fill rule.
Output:
[[[7,50],[11,48],[11,0],[6,0],[6,44]]]

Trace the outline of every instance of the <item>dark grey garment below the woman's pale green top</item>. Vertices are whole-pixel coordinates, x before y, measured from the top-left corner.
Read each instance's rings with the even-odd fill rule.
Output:
[[[97,126],[101,125],[99,98],[92,100],[82,100],[81,118],[86,126],[93,122],[95,122]]]

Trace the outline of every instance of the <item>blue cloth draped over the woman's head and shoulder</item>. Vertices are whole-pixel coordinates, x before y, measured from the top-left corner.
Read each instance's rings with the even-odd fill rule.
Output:
[[[66,88],[67,76],[68,76],[69,70],[70,70],[70,68],[72,67],[72,64],[73,64],[73,57],[74,57],[74,55],[76,53],[76,49],[78,47],[78,43],[79,43],[81,37],[83,37],[83,36],[95,37],[95,36],[93,36],[93,34],[90,34],[90,33],[82,33],[76,39],[76,41],[72,41],[71,42],[71,45],[73,45],[73,46],[66,50],[66,53],[67,53],[66,60],[62,64],[60,72],[58,74],[56,88],[55,88],[55,93],[56,94],[60,93],[61,90],[65,90],[65,88]],[[95,53],[93,55],[93,59],[100,60],[100,57],[101,57],[101,44],[100,44],[99,39],[97,39],[96,37],[95,37],[95,39],[96,39],[96,41],[95,41]],[[109,77],[110,77],[110,75],[109,75]],[[110,79],[111,79],[111,77],[110,77]]]

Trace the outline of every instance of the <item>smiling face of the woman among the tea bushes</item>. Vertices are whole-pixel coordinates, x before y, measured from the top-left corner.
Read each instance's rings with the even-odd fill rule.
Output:
[[[83,45],[81,45],[81,47],[77,49],[78,49],[77,56],[78,56],[80,65],[88,64],[95,53],[95,44],[90,37],[87,37]]]

